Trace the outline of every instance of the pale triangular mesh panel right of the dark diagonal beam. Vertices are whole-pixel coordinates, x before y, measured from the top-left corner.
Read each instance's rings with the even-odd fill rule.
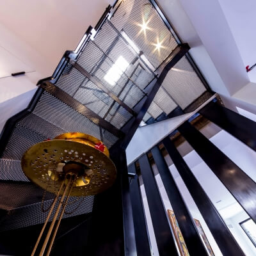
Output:
[[[168,72],[143,121],[156,119],[162,113],[168,115],[178,106],[186,113],[198,108],[211,93],[197,76],[194,68],[184,56]],[[161,109],[161,110],[160,110]]]

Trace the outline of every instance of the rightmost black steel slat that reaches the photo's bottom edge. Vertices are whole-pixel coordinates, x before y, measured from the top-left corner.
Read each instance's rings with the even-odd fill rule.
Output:
[[[172,158],[175,167],[180,173],[182,180],[186,184],[189,193],[193,197],[199,211],[204,217],[207,226],[211,230],[212,236],[218,244],[221,253],[224,256],[244,255],[241,248],[236,243],[236,240],[228,230],[228,227],[222,220],[220,214],[215,209],[209,197],[206,195],[204,189],[200,186],[198,180],[196,180],[183,157],[180,156],[177,148],[175,148],[170,138],[165,138],[163,140],[163,144],[168,154]]]

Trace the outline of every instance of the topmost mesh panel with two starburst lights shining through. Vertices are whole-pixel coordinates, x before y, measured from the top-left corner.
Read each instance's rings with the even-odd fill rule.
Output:
[[[155,68],[177,46],[163,20],[147,0],[123,1],[111,22],[119,31],[125,31]],[[143,24],[147,25],[145,31]],[[157,44],[161,45],[159,49]]]

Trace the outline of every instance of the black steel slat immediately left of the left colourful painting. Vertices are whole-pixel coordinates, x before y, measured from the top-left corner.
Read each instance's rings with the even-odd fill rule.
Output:
[[[140,171],[147,195],[148,207],[156,236],[157,248],[161,256],[178,255],[167,220],[166,211],[161,201],[156,180],[148,161],[147,154],[139,159]]]

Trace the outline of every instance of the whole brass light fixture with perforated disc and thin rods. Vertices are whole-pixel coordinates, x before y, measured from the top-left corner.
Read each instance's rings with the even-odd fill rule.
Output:
[[[112,186],[116,179],[108,148],[97,138],[81,132],[67,132],[33,145],[22,156],[21,166],[31,182],[55,195],[31,256],[50,255],[70,196],[96,195]],[[81,202],[68,213],[76,211]]]

